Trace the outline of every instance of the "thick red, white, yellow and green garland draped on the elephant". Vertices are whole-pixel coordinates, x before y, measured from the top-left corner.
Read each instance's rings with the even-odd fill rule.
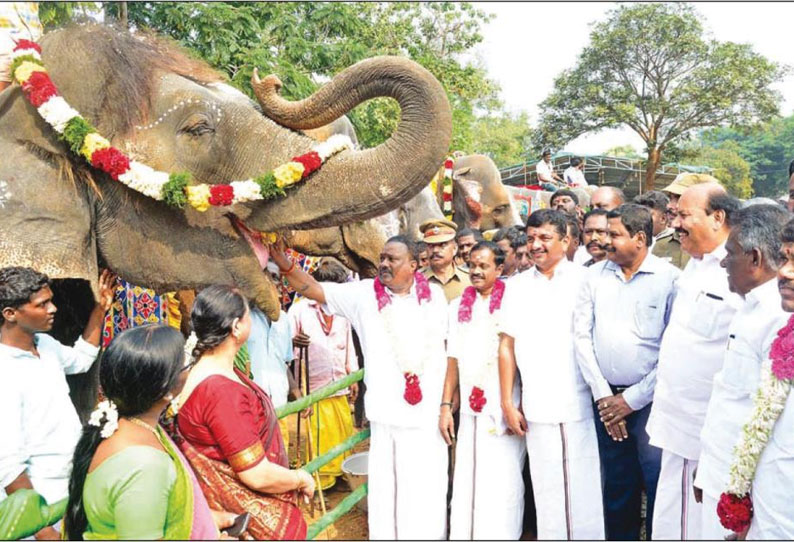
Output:
[[[110,145],[80,113],[58,93],[41,60],[41,47],[29,40],[16,42],[11,53],[10,73],[41,117],[52,126],[72,152],[91,166],[131,189],[169,205],[190,204],[198,211],[284,196],[284,189],[317,171],[331,156],[353,148],[349,137],[333,135],[311,151],[293,157],[273,171],[225,184],[193,184],[189,173],[166,173],[130,160]]]

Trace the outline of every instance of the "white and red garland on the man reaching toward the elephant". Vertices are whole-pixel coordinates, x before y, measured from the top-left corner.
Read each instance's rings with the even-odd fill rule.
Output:
[[[394,353],[394,359],[400,367],[400,372],[405,377],[405,392],[403,398],[409,405],[416,405],[422,401],[422,387],[419,382],[419,377],[422,376],[426,365],[427,356],[431,355],[429,344],[423,345],[418,351],[421,353],[419,356],[413,353],[406,352],[406,347],[411,347],[412,352],[416,352],[417,348],[414,343],[411,343],[407,337],[399,337],[395,331],[395,315],[394,306],[391,302],[391,296],[386,291],[386,287],[379,278],[375,279],[375,299],[378,302],[378,312],[383,318],[384,328],[386,334],[389,336],[389,342]],[[430,284],[427,278],[419,272],[414,274],[414,288],[416,289],[416,301],[419,307],[422,307],[424,302],[425,306],[430,301]],[[417,318],[414,323],[423,324],[427,322],[427,318]],[[424,331],[423,334],[428,339],[429,333]],[[426,341],[429,342],[429,341]]]

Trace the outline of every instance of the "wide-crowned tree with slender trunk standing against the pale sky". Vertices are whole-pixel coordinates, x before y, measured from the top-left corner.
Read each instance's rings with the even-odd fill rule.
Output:
[[[688,4],[621,5],[593,26],[576,65],[541,104],[539,140],[628,126],[645,141],[645,185],[671,143],[693,131],[749,125],[778,112],[786,69],[745,44],[704,35]]]

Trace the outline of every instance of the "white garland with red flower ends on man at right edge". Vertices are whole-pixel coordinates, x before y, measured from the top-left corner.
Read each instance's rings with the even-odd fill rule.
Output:
[[[742,428],[742,439],[733,451],[728,488],[720,496],[717,515],[722,526],[741,533],[750,526],[753,502],[750,488],[758,461],[786,406],[794,379],[794,315],[777,332],[769,361],[761,368],[761,384],[753,402],[753,414]]]

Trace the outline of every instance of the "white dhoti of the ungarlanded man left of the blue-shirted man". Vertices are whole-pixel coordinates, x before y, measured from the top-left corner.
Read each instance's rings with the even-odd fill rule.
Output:
[[[528,425],[538,540],[603,540],[601,464],[593,419]]]

